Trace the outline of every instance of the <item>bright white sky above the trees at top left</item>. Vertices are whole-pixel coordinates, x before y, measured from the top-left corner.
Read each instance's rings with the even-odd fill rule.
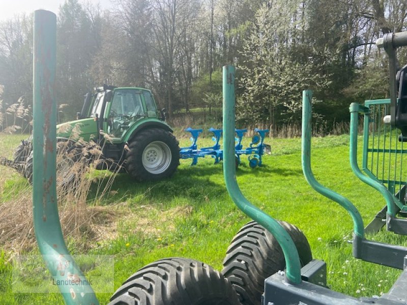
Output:
[[[30,14],[39,9],[57,14],[64,2],[65,0],[0,0],[0,21],[13,18],[18,13]],[[89,0],[89,2],[100,3],[102,10],[112,7],[110,0]]]

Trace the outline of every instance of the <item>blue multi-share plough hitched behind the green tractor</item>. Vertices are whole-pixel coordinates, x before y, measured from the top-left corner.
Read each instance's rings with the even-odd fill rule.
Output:
[[[203,158],[205,156],[211,156],[215,159],[215,164],[223,160],[223,149],[221,149],[219,141],[222,137],[221,129],[210,128],[209,131],[213,133],[212,140],[215,142],[213,146],[203,147],[198,149],[196,144],[199,135],[202,133],[202,129],[192,129],[188,127],[185,131],[191,133],[192,145],[188,147],[182,147],[180,150],[181,159],[192,159],[191,165],[196,165],[198,163],[198,158]],[[235,145],[235,155],[236,155],[236,166],[240,164],[241,155],[249,155],[249,166],[255,168],[261,166],[261,157],[264,154],[271,153],[271,147],[264,143],[264,138],[269,132],[268,129],[255,129],[256,134],[252,137],[249,147],[243,148],[242,139],[247,129],[236,129],[236,145]]]

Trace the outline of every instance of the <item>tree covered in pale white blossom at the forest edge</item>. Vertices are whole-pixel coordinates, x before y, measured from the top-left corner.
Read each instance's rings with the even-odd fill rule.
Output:
[[[298,120],[302,90],[323,90],[329,84],[322,70],[326,55],[299,42],[302,33],[293,22],[299,4],[275,1],[257,13],[240,66],[245,90],[237,113],[246,123],[275,124],[282,113],[287,123]]]

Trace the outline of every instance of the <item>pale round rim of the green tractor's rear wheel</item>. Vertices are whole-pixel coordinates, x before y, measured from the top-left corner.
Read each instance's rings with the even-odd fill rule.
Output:
[[[171,150],[168,145],[161,141],[154,141],[144,148],[141,162],[148,172],[160,174],[167,170],[171,159]]]

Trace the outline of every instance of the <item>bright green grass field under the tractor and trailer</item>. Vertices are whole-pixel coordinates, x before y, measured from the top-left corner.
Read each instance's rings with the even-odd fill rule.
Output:
[[[20,138],[0,135],[0,155],[10,154],[10,147]],[[305,233],[313,257],[327,262],[330,288],[353,296],[387,292],[400,271],[352,257],[352,246],[347,242],[351,239],[352,220],[338,204],[308,186],[301,170],[301,140],[266,142],[272,146],[272,156],[264,158],[264,167],[250,169],[247,158],[242,157],[237,180],[245,196],[274,218],[290,222]],[[210,139],[199,143],[209,146]],[[182,139],[180,146],[187,145],[188,139]],[[323,185],[359,208],[366,225],[385,201],[353,175],[347,145],[346,135],[313,139],[312,167]],[[1,172],[2,202],[18,196],[15,190],[28,188],[24,179],[11,170],[1,167]],[[78,240],[68,236],[67,243],[75,254],[114,255],[114,289],[143,265],[164,257],[194,258],[220,270],[231,238],[249,221],[226,192],[222,165],[214,165],[210,158],[200,159],[193,167],[190,161],[182,161],[171,179],[156,183],[136,183],[126,174],[119,174],[109,196],[95,200],[98,175],[104,173],[95,173],[88,204],[115,214],[111,221],[99,224],[104,238],[84,236]],[[372,238],[407,246],[407,237],[385,231]],[[11,253],[5,245],[0,247],[7,249],[0,255],[1,304],[64,303],[56,293],[14,294]],[[107,303],[110,295],[99,293],[101,304]]]

